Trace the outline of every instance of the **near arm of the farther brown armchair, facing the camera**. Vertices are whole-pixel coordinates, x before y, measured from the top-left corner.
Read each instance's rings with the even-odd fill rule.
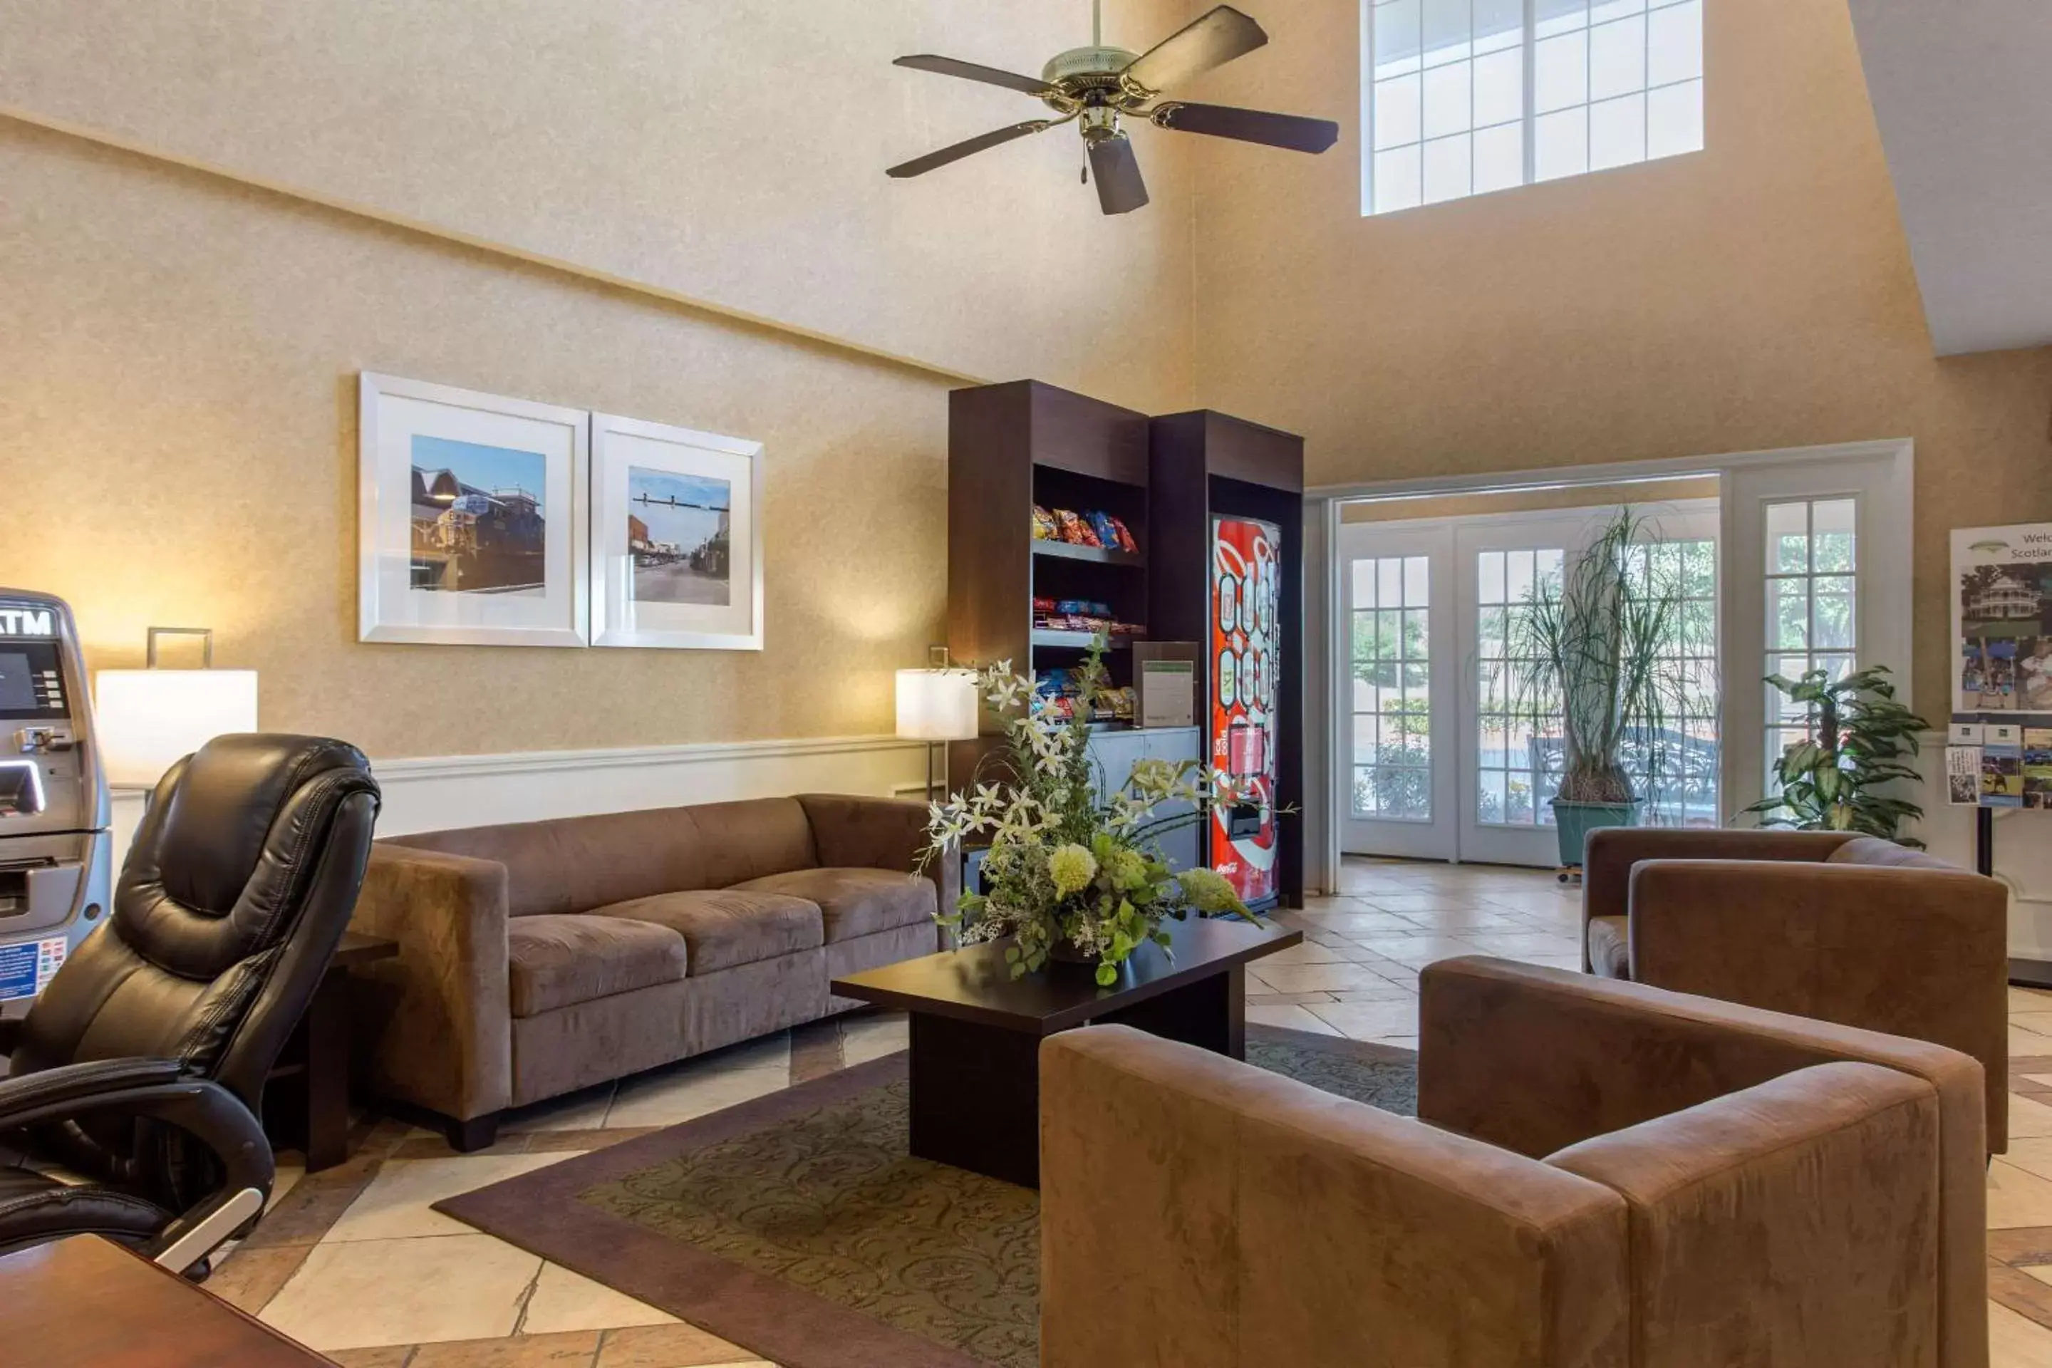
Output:
[[[1929,1040],[1988,1077],[2009,1128],[2009,890],[1966,870],[1652,859],[1631,872],[1631,978]]]

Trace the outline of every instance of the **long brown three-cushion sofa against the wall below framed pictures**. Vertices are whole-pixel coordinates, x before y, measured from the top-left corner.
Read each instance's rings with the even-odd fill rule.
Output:
[[[351,927],[376,1089],[490,1144],[499,1112],[856,1007],[827,982],[940,948],[925,808],[800,794],[388,837]]]

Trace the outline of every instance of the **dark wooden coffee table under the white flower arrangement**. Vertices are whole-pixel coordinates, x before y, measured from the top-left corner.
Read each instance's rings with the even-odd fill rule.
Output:
[[[886,964],[833,991],[911,1013],[911,1153],[1026,1188],[1040,1185],[1040,1040],[1077,1025],[1135,1025],[1246,1058],[1246,966],[1303,931],[1246,921],[1170,921],[1176,954],[1141,945],[1118,982],[1094,964],[1012,976],[991,941]]]

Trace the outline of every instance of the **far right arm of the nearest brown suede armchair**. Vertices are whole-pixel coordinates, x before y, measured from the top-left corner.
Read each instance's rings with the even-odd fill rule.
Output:
[[[1508,960],[1441,960],[1418,989],[1420,1120],[1523,1155],[1551,1155],[1810,1064],[1851,1060],[1925,1079],[1939,1099],[1943,1362],[1986,1362],[1986,1097],[1972,1056]]]

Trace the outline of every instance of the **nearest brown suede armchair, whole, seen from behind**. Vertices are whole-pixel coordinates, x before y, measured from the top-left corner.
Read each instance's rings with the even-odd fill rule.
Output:
[[[1479,958],[1420,1011],[1426,1124],[1049,1038],[1042,1368],[1986,1368],[1972,1058]]]

